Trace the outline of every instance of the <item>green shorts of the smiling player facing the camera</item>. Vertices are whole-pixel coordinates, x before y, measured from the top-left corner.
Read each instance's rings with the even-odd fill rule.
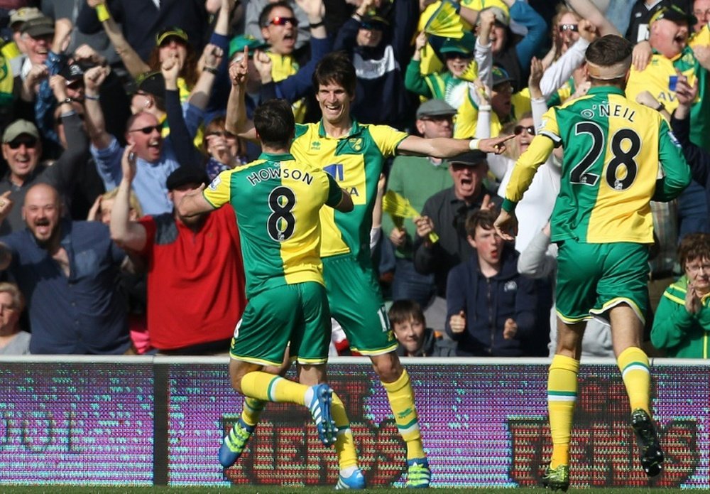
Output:
[[[350,254],[324,257],[323,278],[332,316],[343,327],[352,350],[382,355],[397,348],[371,267]]]

